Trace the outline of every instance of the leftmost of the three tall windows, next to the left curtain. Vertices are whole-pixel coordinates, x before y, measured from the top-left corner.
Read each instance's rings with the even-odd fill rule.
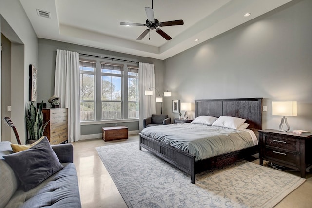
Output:
[[[95,118],[95,69],[95,62],[80,60],[80,121]]]

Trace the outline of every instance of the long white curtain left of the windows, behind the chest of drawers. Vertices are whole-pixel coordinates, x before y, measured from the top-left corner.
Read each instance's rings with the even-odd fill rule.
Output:
[[[61,108],[68,108],[68,142],[80,139],[79,77],[79,53],[58,49],[54,95],[60,98]]]

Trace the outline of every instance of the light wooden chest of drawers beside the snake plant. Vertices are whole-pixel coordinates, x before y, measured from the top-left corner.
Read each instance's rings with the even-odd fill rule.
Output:
[[[49,108],[42,109],[43,122],[50,121],[45,127],[43,135],[51,145],[60,144],[68,139],[68,109]]]

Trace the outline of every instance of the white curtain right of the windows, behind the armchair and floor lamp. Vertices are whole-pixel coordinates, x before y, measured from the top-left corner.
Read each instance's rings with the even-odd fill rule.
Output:
[[[143,119],[150,117],[156,113],[155,104],[155,75],[154,75],[154,64],[139,63],[138,65],[138,92],[139,92],[139,130],[143,129]],[[153,96],[145,96],[145,90],[150,87],[153,88]]]

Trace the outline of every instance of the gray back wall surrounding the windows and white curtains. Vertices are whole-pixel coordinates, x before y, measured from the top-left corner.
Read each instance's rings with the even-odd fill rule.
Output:
[[[38,92],[37,92],[38,101],[44,100],[44,102],[47,102],[48,99],[54,94],[55,59],[57,49],[75,51],[78,53],[91,54],[102,57],[113,57],[137,62],[152,63],[154,64],[155,68],[156,88],[159,91],[163,91],[164,63],[162,60],[157,60],[148,57],[139,57],[129,54],[123,54],[118,52],[96,49],[92,47],[86,47],[76,44],[39,38]],[[92,59],[92,57],[90,58]],[[131,63],[123,62],[123,64],[131,64]],[[160,114],[160,104],[158,103],[156,104],[156,109],[157,109],[156,113]],[[81,135],[98,134],[101,133],[101,127],[114,126],[115,124],[117,124],[118,126],[121,125],[127,126],[129,128],[129,131],[138,130],[138,121],[127,123],[100,123],[100,124],[98,123],[99,122],[96,122],[96,124],[92,125],[81,125]]]

